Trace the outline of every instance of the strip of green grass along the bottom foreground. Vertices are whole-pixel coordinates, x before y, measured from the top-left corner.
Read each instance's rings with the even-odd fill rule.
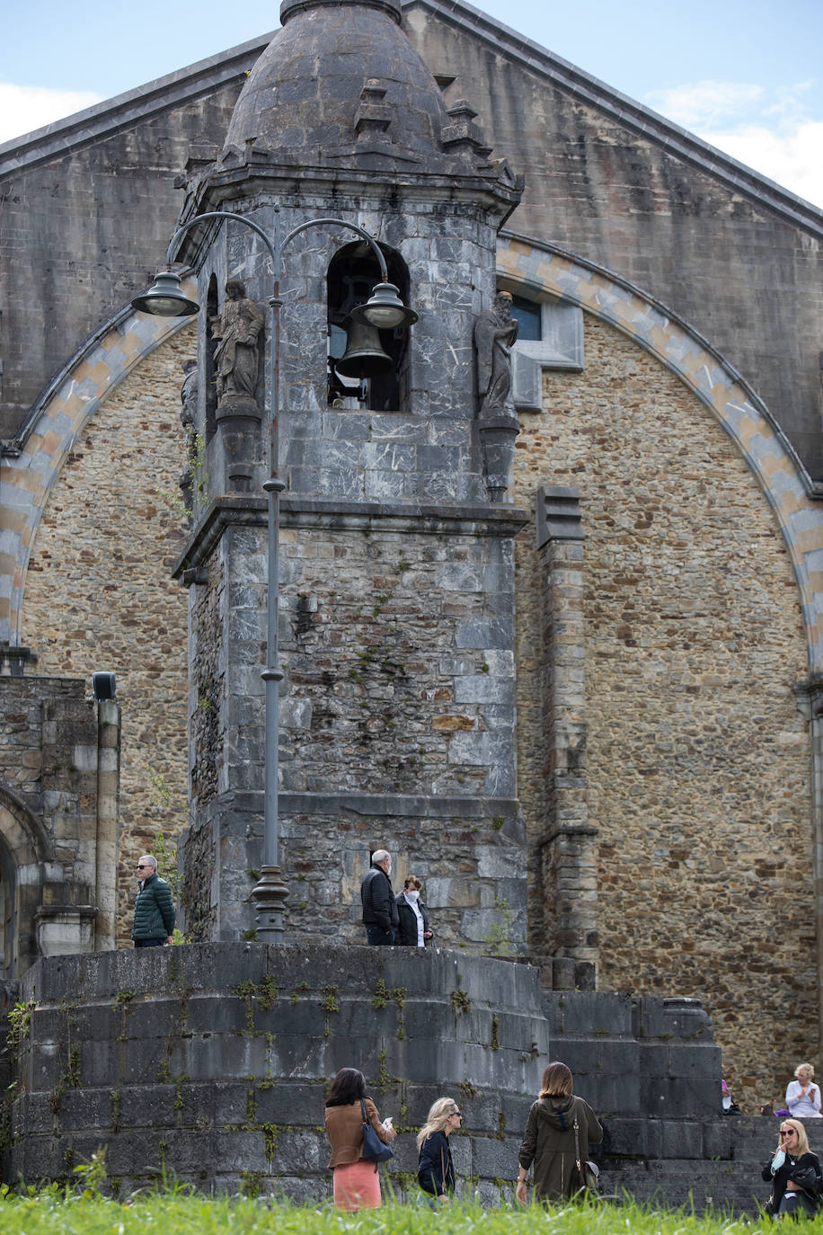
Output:
[[[560,1208],[501,1205],[484,1209],[461,1202],[436,1213],[416,1204],[389,1202],[383,1209],[344,1214],[331,1202],[292,1205],[242,1197],[206,1198],[185,1189],[143,1193],[126,1203],[101,1197],[96,1189],[46,1188],[16,1195],[0,1189],[2,1235],[739,1235],[765,1231],[766,1219],[751,1221],[722,1215],[700,1216],[689,1210],[610,1202]],[[793,1228],[792,1228],[793,1229]],[[823,1231],[823,1218],[803,1230]]]

